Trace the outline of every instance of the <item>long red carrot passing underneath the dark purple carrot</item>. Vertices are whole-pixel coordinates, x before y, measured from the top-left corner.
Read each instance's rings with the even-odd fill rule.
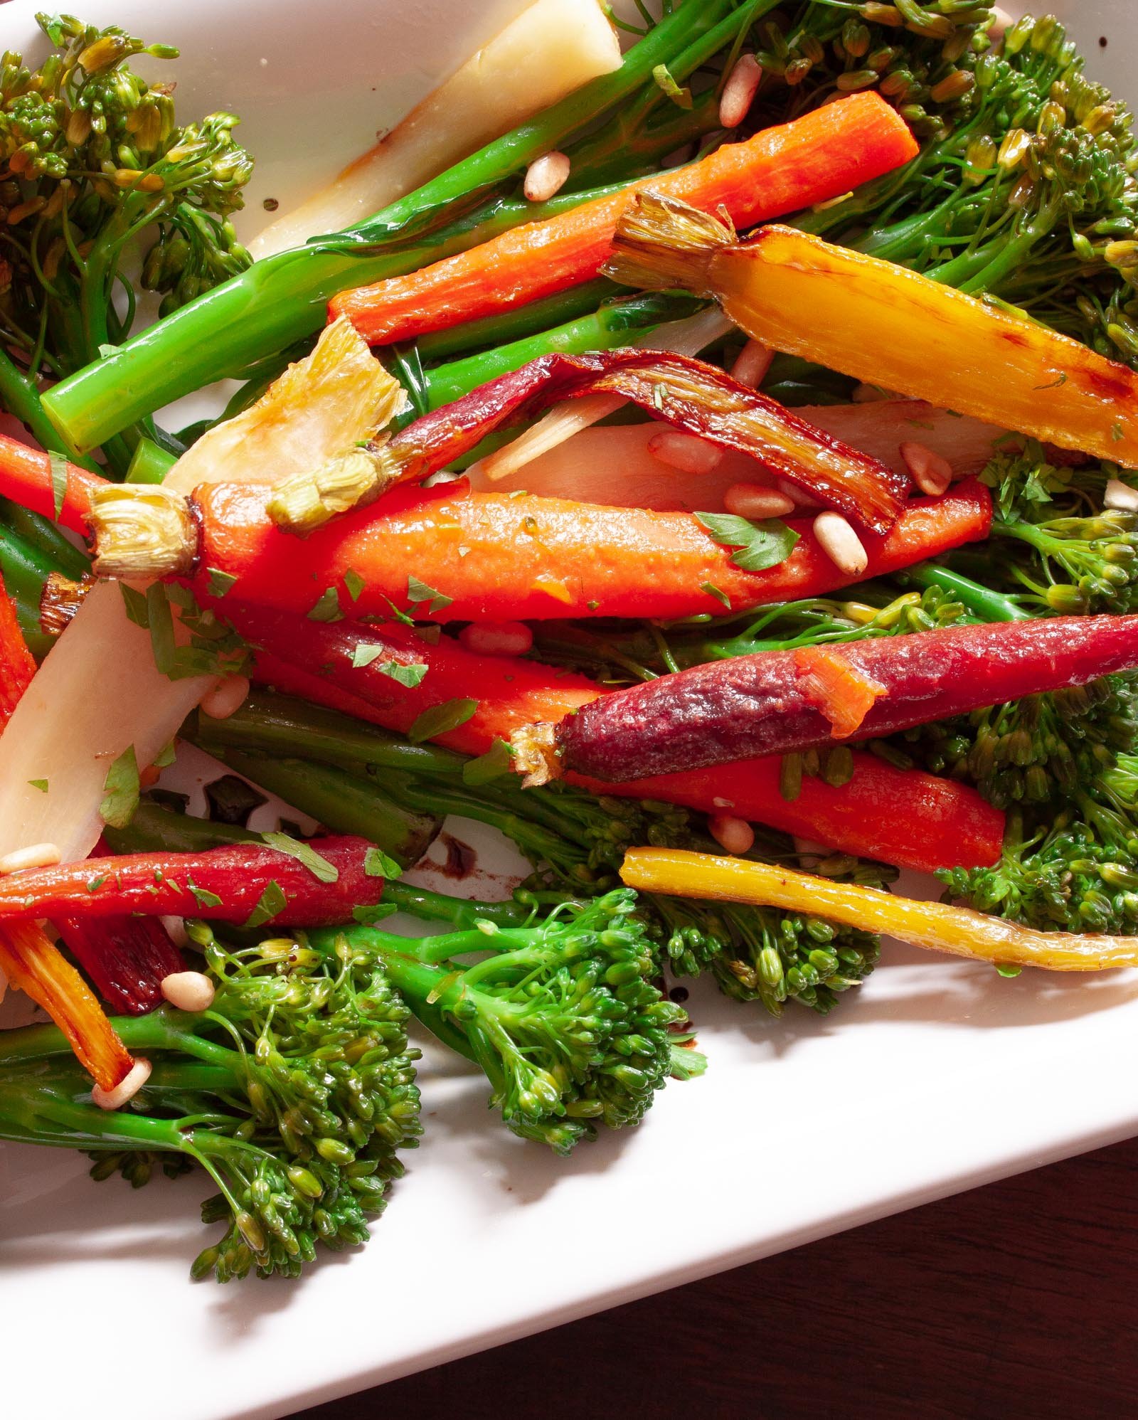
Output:
[[[583,676],[511,656],[475,656],[446,635],[431,643],[409,626],[329,625],[250,606],[227,612],[258,648],[254,674],[263,684],[360,720],[406,733],[426,710],[475,700],[470,719],[433,736],[464,754],[484,754],[495,740],[509,741],[535,717],[548,719],[556,707],[568,714],[603,694]],[[359,656],[360,646],[366,657]],[[392,662],[427,670],[409,687],[385,672]],[[569,778],[602,794],[735,814],[900,868],[931,870],[999,859],[1003,814],[975,790],[917,770],[897,770],[858,751],[853,763],[847,784],[806,775],[793,799],[780,792],[778,758],[739,760],[617,785]]]

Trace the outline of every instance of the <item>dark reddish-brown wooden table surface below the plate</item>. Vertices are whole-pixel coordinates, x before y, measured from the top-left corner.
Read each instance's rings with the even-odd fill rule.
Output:
[[[1138,1416],[1137,1183],[1134,1140],[302,1420]]]

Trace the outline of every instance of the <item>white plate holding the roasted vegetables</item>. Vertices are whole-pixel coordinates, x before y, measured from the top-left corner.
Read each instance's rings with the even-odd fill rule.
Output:
[[[1122,91],[1131,3],[1053,0]],[[34,9],[0,9],[0,50],[30,45]],[[84,14],[182,45],[182,114],[244,115],[254,230],[264,197],[335,170],[519,9],[91,0]],[[1138,1132],[1134,976],[1003,981],[893,947],[827,1020],[772,1022],[704,988],[692,1010],[708,1075],[569,1162],[485,1115],[461,1064],[433,1062],[427,1137],[375,1238],[299,1285],[189,1284],[200,1181],[133,1193],[0,1145],[4,1413],[104,1420],[160,1396],[166,1420],[267,1420]]]

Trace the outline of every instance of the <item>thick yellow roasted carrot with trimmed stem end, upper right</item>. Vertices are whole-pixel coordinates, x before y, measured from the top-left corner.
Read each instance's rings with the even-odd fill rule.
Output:
[[[656,195],[620,223],[609,273],[688,287],[772,349],[1034,439],[1138,466],[1138,373],[918,271],[792,227],[746,243]]]

